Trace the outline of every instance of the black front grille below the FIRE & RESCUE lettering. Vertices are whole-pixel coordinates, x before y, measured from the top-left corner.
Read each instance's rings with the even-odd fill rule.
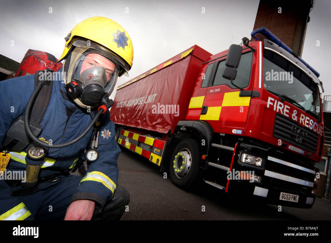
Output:
[[[306,127],[299,126],[298,123],[283,115],[276,114],[273,136],[316,153],[318,134]]]

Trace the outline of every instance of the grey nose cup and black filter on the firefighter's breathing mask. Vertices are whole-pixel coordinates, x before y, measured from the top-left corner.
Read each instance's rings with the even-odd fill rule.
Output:
[[[79,79],[72,79],[66,90],[71,98],[79,98],[83,104],[92,106],[101,101],[106,84],[105,68],[97,66],[84,70]]]

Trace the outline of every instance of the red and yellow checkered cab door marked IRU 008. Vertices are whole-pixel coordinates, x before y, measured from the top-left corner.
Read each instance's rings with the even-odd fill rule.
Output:
[[[242,54],[236,79],[233,80],[244,90],[252,90],[252,59],[252,51]],[[251,97],[240,97],[240,90],[222,77],[225,60],[223,57],[214,63],[199,119],[211,124],[216,133],[243,136]]]

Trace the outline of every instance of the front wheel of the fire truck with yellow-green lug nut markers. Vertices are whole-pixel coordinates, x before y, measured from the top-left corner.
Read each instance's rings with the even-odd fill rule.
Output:
[[[175,147],[170,158],[170,178],[174,185],[189,189],[197,182],[200,168],[200,148],[193,139],[184,139]]]

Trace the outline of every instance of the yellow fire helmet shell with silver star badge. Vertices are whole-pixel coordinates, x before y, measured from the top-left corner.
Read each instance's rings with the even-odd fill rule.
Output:
[[[99,53],[119,64],[119,77],[132,67],[133,46],[126,30],[114,20],[92,17],[76,24],[65,37],[64,51],[59,58],[68,57],[74,47]],[[68,80],[69,81],[69,80]]]

